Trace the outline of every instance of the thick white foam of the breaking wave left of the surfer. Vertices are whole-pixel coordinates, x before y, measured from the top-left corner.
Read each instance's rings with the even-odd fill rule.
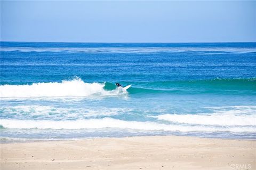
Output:
[[[106,91],[104,83],[85,83],[81,79],[63,80],[61,83],[34,83],[32,85],[1,85],[1,98],[110,96],[125,94],[121,89]]]

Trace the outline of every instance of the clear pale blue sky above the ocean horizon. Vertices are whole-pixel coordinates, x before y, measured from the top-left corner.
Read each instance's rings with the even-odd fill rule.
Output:
[[[2,1],[1,41],[256,42],[256,1]]]

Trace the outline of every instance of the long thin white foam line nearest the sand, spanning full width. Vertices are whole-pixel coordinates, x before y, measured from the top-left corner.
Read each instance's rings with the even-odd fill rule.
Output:
[[[0,124],[12,129],[98,129],[98,128],[123,128],[144,131],[230,131],[230,132],[255,132],[254,127],[214,127],[214,126],[184,126],[160,124],[156,122],[125,121],[113,118],[79,119],[79,120],[17,120],[1,119]]]

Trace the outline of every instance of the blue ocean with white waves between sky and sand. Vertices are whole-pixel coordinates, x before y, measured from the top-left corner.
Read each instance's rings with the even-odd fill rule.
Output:
[[[1,42],[0,51],[1,142],[256,139],[256,43]]]

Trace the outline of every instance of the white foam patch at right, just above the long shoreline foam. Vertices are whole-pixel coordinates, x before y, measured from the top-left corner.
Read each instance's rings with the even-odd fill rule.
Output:
[[[173,123],[218,125],[218,126],[256,126],[256,106],[211,107],[211,114],[164,114],[154,116]]]

